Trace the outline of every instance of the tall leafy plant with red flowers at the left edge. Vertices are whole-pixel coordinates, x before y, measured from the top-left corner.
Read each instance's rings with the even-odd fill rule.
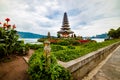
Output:
[[[10,19],[6,18],[6,22],[3,24],[0,22],[0,51],[1,56],[8,56],[11,53],[14,53],[17,40],[19,38],[15,24],[11,26],[9,24]]]

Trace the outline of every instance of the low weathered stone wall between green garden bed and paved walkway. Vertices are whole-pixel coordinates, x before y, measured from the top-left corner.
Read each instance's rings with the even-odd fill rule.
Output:
[[[118,45],[120,45],[120,42],[101,48],[69,62],[58,62],[72,73],[74,80],[81,80],[103,59],[105,59]]]

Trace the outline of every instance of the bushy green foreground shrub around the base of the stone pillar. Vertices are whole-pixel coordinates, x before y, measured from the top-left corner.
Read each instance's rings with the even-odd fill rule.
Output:
[[[50,55],[49,58],[51,63],[48,66],[45,62],[46,58],[42,53],[36,51],[32,55],[28,69],[30,80],[70,80],[70,73],[64,67],[57,64],[54,55]]]

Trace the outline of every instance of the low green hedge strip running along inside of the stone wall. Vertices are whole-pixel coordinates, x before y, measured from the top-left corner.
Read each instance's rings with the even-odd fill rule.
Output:
[[[52,54],[54,54],[57,59],[67,62],[118,41],[120,41],[120,39],[108,40],[101,43],[89,42],[79,46],[72,46],[73,48],[75,47],[75,49],[71,49],[72,47],[68,46],[68,48],[52,52]]]

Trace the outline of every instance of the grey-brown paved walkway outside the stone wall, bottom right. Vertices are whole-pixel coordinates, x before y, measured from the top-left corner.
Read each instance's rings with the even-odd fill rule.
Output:
[[[120,80],[120,46],[97,72],[92,80]]]

